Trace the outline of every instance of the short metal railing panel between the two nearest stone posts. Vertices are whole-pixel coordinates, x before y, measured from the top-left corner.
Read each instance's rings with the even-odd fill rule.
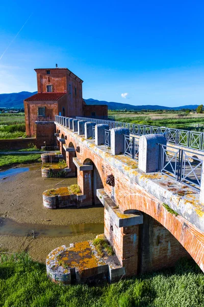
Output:
[[[138,160],[139,142],[134,136],[123,135],[124,155]]]

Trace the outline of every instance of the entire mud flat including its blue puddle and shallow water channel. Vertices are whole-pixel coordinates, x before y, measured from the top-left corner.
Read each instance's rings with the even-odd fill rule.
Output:
[[[44,208],[44,190],[76,184],[77,178],[42,178],[40,166],[22,165],[7,173],[0,172],[0,250],[17,252],[29,245],[29,254],[44,262],[47,254],[58,246],[69,246],[103,233],[104,208]]]

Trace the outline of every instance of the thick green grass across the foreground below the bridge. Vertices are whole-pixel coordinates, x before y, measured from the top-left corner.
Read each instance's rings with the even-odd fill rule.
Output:
[[[174,269],[111,285],[65,287],[48,280],[45,265],[27,254],[4,255],[0,293],[4,307],[203,307],[204,275],[182,260]]]

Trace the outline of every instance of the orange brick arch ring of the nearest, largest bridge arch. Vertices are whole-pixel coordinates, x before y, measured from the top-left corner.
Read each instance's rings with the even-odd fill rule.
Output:
[[[177,239],[200,269],[204,271],[204,236],[185,218],[180,215],[175,216],[161,203],[139,193],[126,195],[123,209],[125,209],[123,212],[139,210],[153,217]]]

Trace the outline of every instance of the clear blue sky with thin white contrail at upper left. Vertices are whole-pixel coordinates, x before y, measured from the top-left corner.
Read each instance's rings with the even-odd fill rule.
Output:
[[[5,1],[0,93],[36,91],[34,68],[67,67],[83,97],[179,106],[204,97],[201,1]]]

